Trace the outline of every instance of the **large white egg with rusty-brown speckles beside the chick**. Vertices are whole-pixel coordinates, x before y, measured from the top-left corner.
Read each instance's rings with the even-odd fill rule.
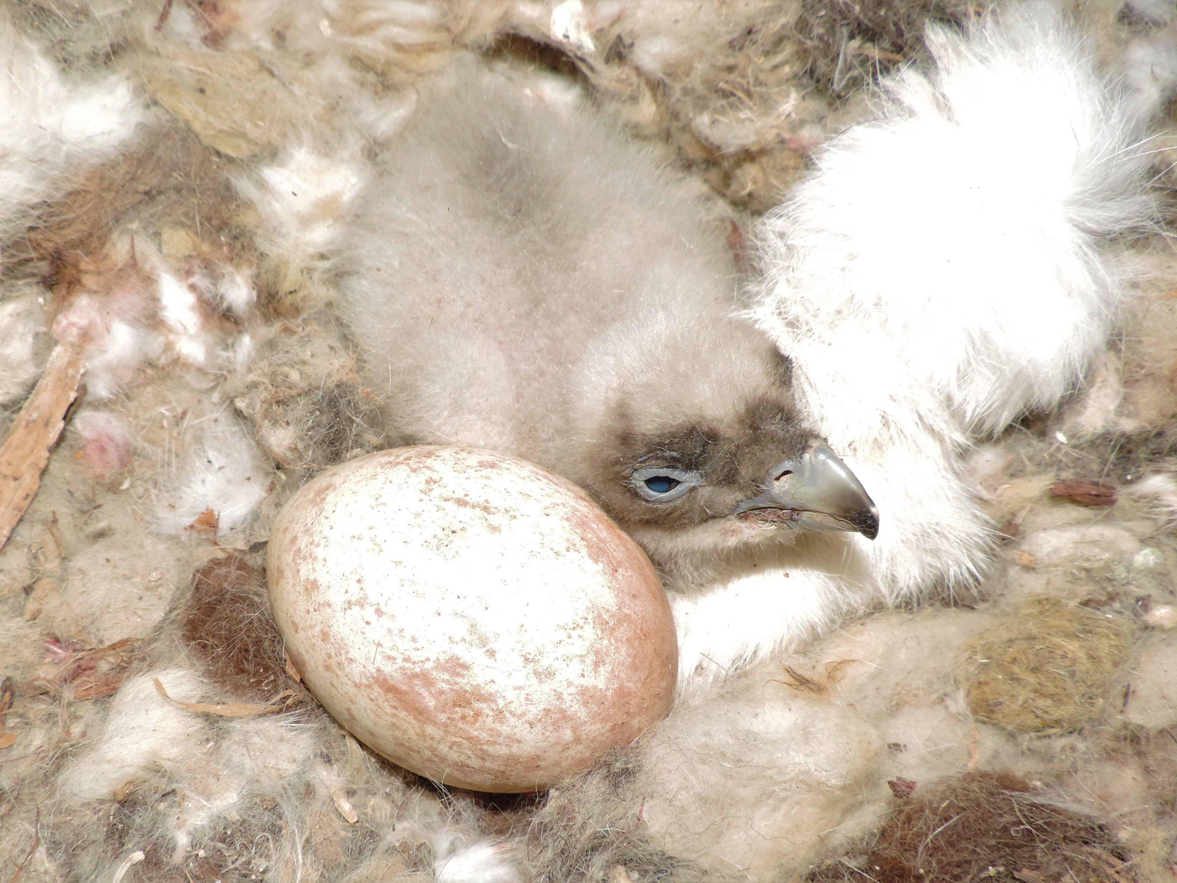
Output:
[[[401,447],[315,478],[270,537],[291,662],[385,757],[480,791],[544,788],[670,710],[670,605],[641,549],[532,463]]]

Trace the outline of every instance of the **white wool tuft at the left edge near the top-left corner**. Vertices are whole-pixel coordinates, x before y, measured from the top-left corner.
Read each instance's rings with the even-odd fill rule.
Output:
[[[107,159],[144,118],[126,81],[67,81],[0,15],[0,240],[31,220],[22,210],[65,188],[66,172]]]

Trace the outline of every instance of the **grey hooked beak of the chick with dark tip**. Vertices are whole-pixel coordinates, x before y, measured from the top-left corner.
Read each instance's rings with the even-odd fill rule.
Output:
[[[736,507],[736,514],[785,510],[802,530],[879,535],[879,511],[858,478],[824,442],[813,440],[796,460],[777,464],[765,491]]]

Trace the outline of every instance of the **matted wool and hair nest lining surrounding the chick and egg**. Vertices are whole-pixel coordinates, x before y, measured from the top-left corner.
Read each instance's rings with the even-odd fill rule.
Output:
[[[580,9],[581,32],[552,26],[557,6]],[[777,664],[689,708],[664,766],[651,768],[661,783],[643,774],[643,743],[545,796],[503,799],[447,791],[374,756],[287,666],[261,571],[268,525],[308,477],[383,444],[333,313],[332,223],[364,186],[352,172],[368,147],[343,137],[340,120],[386,133],[411,111],[415,78],[473,48],[576,78],[700,190],[756,214],[798,180],[816,145],[866,113],[875,78],[918,60],[925,18],[956,26],[980,12],[800,0],[683,5],[671,19],[661,2],[630,7],[6,7],[0,35],[12,31],[16,48],[28,38],[52,62],[56,91],[39,109],[94,91],[119,118],[112,77],[149,107],[127,112],[117,148],[99,137],[74,153],[33,144],[24,171],[38,190],[0,218],[0,425],[46,369],[44,328],[84,300],[95,321],[129,317],[139,334],[105,353],[82,387],[77,352],[62,353],[73,367],[49,391],[60,419],[34,452],[40,487],[0,550],[4,878],[724,881],[738,871],[710,844],[737,842],[723,839],[737,829],[763,878],[792,878],[830,855],[837,863],[811,878],[1165,878],[1177,809],[1168,710],[1133,728],[1111,712],[1138,635],[1177,623],[1172,267],[1155,271],[1146,308],[1110,351],[1119,370],[1093,378],[1102,398],[1079,397],[995,443],[1000,465],[978,478],[978,493],[1011,543],[1078,526],[1118,545],[1099,550],[1098,567],[1071,566],[1069,553],[1056,597],[1022,606],[1048,567],[1030,552],[999,559],[971,596],[977,609],[950,611],[962,635],[984,632],[956,668],[963,704],[911,659],[887,651],[863,664],[865,651],[839,650],[812,676]],[[27,53],[8,55],[14,74],[35,67]],[[13,193],[0,193],[0,208]],[[738,230],[729,241],[743,251]],[[187,294],[165,303],[166,286]],[[1048,492],[1057,479],[1128,486],[1142,472],[1153,473],[1151,490],[1122,487],[1100,514]],[[899,649],[932,645],[944,612],[911,613]],[[952,670],[956,649],[932,662]],[[770,706],[794,725],[787,738],[765,732],[782,730],[779,718],[765,723]],[[853,769],[818,750],[847,732]],[[917,742],[930,748],[919,753]],[[923,783],[945,768],[950,778],[895,803],[886,781],[897,769]],[[673,794],[658,791],[667,770]],[[1059,797],[1064,786],[1089,805]],[[762,808],[743,805],[746,795],[778,803],[751,823]],[[679,804],[700,808],[703,822],[673,817]],[[803,839],[813,818],[817,834]]]

